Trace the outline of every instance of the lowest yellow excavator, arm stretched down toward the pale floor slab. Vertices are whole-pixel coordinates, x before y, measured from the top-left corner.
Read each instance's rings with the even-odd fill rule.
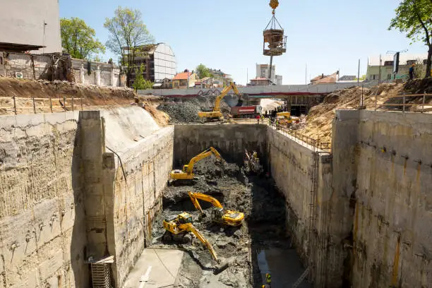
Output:
[[[163,225],[165,234],[162,236],[162,239],[164,242],[179,241],[183,244],[188,244],[192,241],[190,234],[192,233],[205,245],[205,247],[207,247],[212,258],[216,261],[217,265],[213,268],[215,274],[219,274],[228,268],[229,263],[224,262],[217,257],[217,253],[212,247],[212,244],[210,244],[210,242],[204,238],[203,234],[193,226],[192,217],[187,212],[181,212],[179,215],[165,219]]]

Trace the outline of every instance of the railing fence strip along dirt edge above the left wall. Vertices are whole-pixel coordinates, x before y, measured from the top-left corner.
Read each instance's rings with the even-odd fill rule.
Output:
[[[28,114],[32,111],[34,114],[47,112],[66,112],[74,110],[83,110],[84,98],[63,97],[63,98],[37,98],[37,97],[0,97],[0,109],[14,114]],[[7,106],[5,106],[7,104]],[[30,110],[30,111],[29,111]]]

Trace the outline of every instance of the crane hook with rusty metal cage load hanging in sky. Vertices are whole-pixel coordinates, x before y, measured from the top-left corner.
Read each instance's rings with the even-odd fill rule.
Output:
[[[263,54],[270,56],[270,69],[268,73],[268,80],[270,81],[272,79],[273,56],[280,56],[287,52],[287,36],[284,36],[284,29],[275,16],[277,6],[279,6],[279,1],[270,0],[270,7],[273,9],[272,18],[263,32]]]

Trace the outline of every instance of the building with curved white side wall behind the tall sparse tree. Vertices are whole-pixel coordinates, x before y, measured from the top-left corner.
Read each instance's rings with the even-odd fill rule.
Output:
[[[123,49],[124,55],[128,52]],[[133,59],[133,65],[138,69],[141,65],[144,66],[143,77],[145,80],[150,80],[153,83],[162,83],[165,78],[172,79],[176,75],[177,61],[176,55],[168,44],[148,44],[138,47],[138,52]],[[126,56],[124,56],[126,57]],[[136,74],[132,73],[131,85],[136,78]]]

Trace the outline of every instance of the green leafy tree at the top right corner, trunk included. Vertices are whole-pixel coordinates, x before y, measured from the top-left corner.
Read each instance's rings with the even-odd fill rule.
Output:
[[[395,11],[396,16],[388,29],[400,30],[413,42],[424,42],[428,47],[425,77],[429,77],[432,66],[432,0],[403,0]]]

